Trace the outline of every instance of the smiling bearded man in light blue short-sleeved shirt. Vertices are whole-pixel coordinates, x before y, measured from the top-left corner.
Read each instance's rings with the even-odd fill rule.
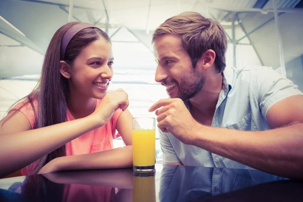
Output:
[[[156,81],[171,98],[156,110],[165,164],[255,168],[303,178],[303,95],[268,67],[226,68],[222,26],[198,13],[153,35]]]

